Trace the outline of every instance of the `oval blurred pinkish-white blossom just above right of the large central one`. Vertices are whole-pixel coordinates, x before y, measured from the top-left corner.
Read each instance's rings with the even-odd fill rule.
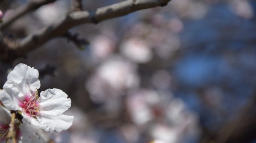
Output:
[[[139,38],[131,38],[124,41],[121,45],[121,53],[138,63],[149,62],[153,53],[146,41]]]

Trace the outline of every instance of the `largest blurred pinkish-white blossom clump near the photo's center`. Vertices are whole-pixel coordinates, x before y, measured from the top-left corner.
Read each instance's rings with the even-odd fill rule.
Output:
[[[100,103],[108,95],[118,96],[138,88],[140,79],[136,65],[120,56],[113,56],[98,67],[86,82],[93,101]]]

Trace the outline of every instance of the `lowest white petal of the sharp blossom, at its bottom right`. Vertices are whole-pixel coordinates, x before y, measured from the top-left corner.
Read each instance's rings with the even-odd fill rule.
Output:
[[[44,116],[42,115],[42,121],[40,122],[45,127],[50,127],[50,132],[60,132],[62,130],[67,130],[74,120],[74,116],[60,115],[60,116]],[[47,130],[45,130],[47,131]]]

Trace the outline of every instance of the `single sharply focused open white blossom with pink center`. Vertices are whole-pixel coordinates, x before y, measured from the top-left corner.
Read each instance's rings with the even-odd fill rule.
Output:
[[[8,110],[19,111],[22,121],[45,131],[68,129],[73,116],[63,115],[71,107],[71,100],[60,89],[47,89],[38,96],[38,70],[20,63],[7,76],[0,101]]]

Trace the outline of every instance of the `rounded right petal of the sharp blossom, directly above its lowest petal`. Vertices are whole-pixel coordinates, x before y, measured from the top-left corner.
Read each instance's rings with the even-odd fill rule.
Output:
[[[40,93],[40,113],[49,116],[58,116],[71,107],[68,95],[60,89],[47,89]]]

